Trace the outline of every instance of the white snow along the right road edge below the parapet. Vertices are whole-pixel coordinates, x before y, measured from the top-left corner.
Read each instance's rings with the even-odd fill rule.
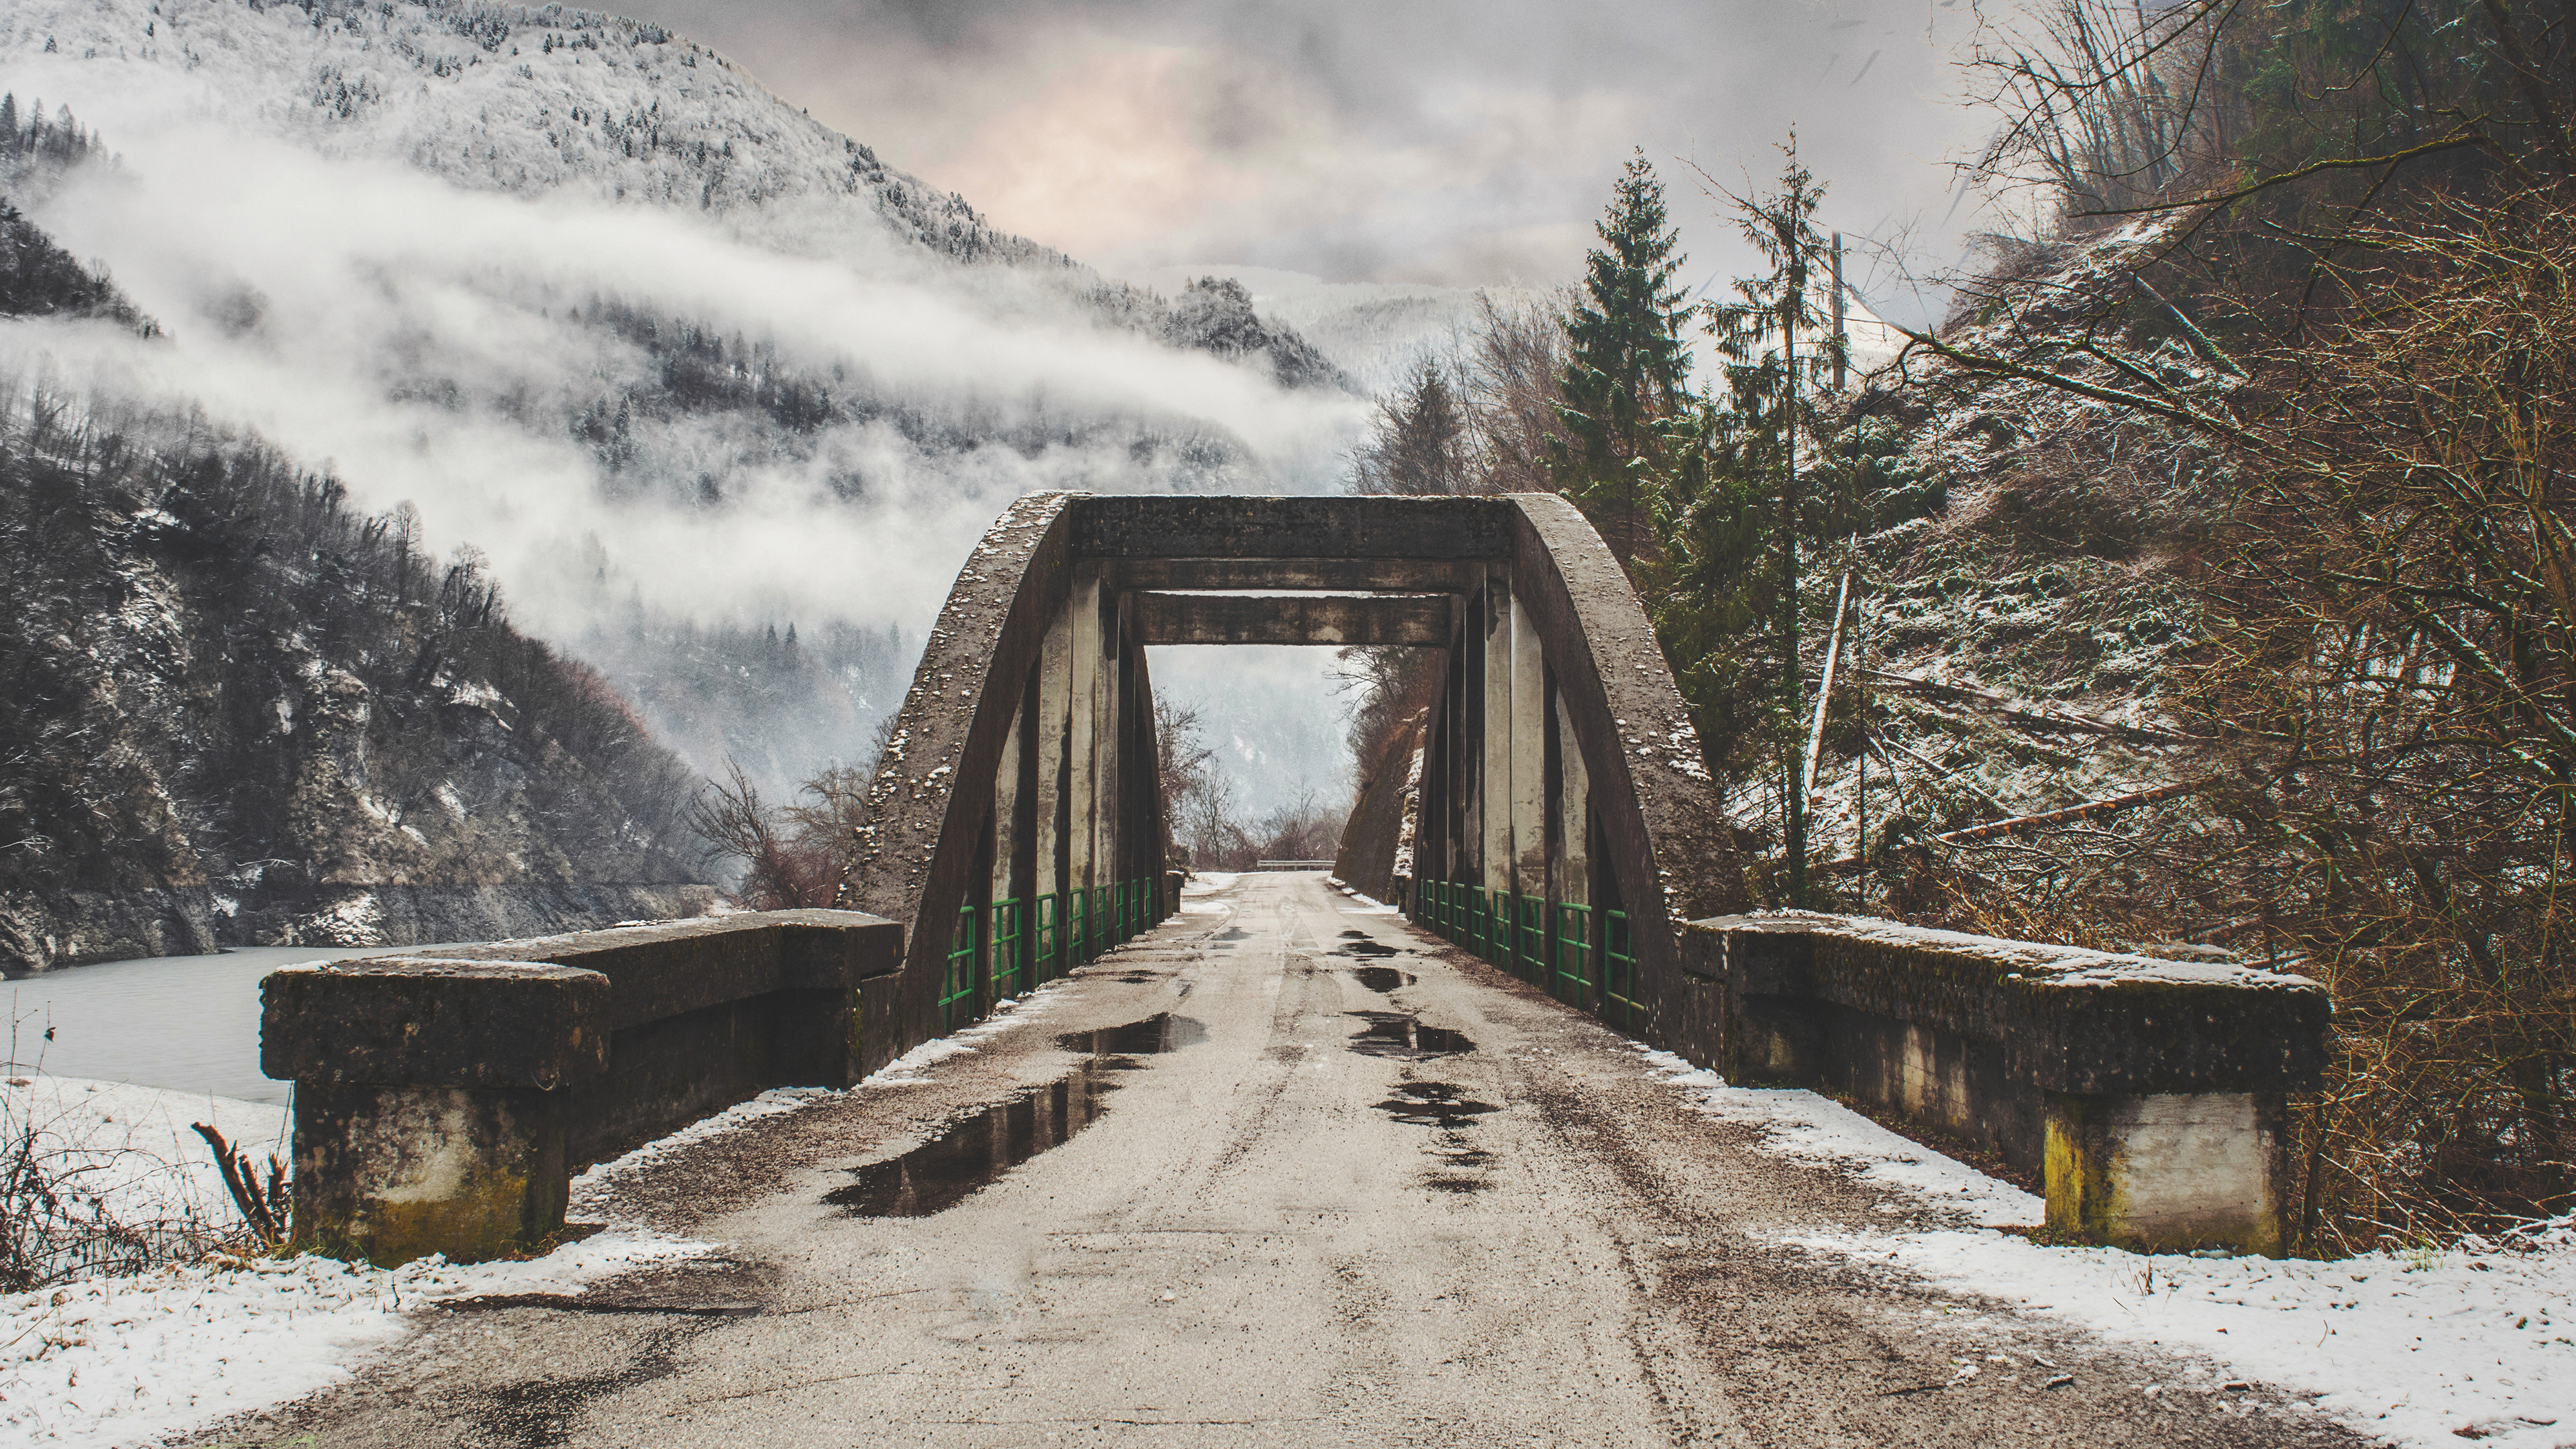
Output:
[[[2012,1183],[1811,1091],[1731,1088],[1672,1052],[1638,1052],[1692,1109],[1765,1129],[1765,1150],[1978,1225],[1795,1232],[1783,1243],[2218,1366],[2187,1364],[2182,1382],[2141,1382],[2141,1395],[2262,1379],[2316,1395],[2318,1410],[2411,1449],[2463,1439],[2576,1446],[2576,1217],[2530,1225],[2506,1243],[2334,1263],[2040,1248],[1994,1230],[2045,1217],[2045,1204]]]

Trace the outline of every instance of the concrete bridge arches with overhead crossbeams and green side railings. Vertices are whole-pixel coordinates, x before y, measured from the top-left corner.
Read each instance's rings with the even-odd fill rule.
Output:
[[[1005,508],[930,632],[842,882],[907,923],[876,1052],[1177,905],[1144,650],[1216,642],[1443,650],[1394,905],[1708,1060],[1721,990],[1682,923],[1741,910],[1744,874],[1636,593],[1543,492]]]

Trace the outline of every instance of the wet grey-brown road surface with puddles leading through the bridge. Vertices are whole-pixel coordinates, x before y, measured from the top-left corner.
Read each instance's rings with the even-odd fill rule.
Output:
[[[206,1441],[2360,1444],[1777,1243],[1883,1201],[1404,920],[1252,874],[920,1083],[608,1204],[721,1258],[430,1310]]]

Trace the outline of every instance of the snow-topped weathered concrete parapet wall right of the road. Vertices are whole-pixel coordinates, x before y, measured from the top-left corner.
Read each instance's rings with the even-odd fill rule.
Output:
[[[2285,1240],[2285,1101],[2326,1065],[2306,977],[1850,915],[1695,920],[1734,1080],[1795,1080],[2040,1171],[2053,1230],[2130,1248]]]

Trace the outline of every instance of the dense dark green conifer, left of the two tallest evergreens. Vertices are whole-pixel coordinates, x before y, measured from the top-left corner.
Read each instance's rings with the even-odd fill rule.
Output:
[[[1667,227],[1664,183],[1646,152],[1628,160],[1600,224],[1602,245],[1584,258],[1584,299],[1566,317],[1566,438],[1551,456],[1556,490],[1592,518],[1620,567],[1636,578],[1654,547],[1654,477],[1662,423],[1674,418],[1690,376],[1682,348],[1682,255]]]

